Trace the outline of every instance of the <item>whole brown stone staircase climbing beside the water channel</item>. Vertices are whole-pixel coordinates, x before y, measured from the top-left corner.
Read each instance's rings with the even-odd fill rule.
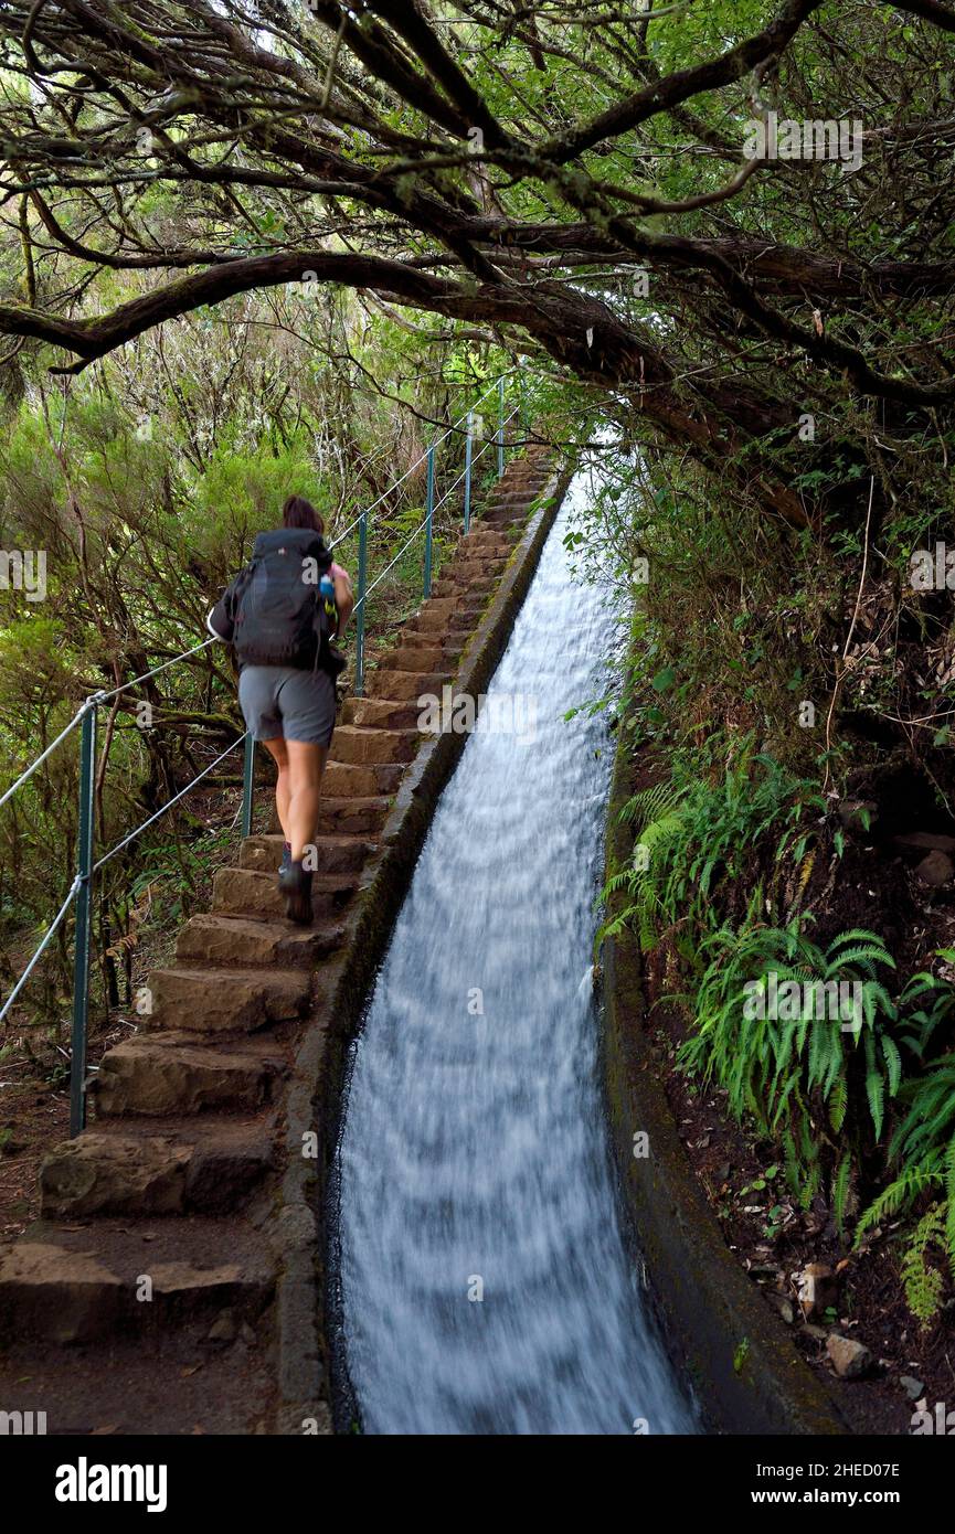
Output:
[[[91,1083],[91,1127],[41,1166],[40,1220],[0,1247],[0,1410],[46,1410],[51,1433],[273,1430],[283,1094],[306,1029],[333,1026],[362,870],[421,746],[418,698],[453,680],[548,479],[542,449],[508,466],[368,695],[345,703],[315,925],[284,919],[283,838],[250,836],[149,977],[141,1031]]]

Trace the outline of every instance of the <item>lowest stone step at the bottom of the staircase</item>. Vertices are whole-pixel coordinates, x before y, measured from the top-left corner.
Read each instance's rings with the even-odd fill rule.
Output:
[[[149,1233],[144,1243],[127,1221],[98,1221],[95,1230],[35,1224],[0,1255],[0,1335],[71,1345],[181,1328],[226,1309],[253,1319],[269,1304],[273,1262],[246,1221],[169,1218]],[[227,1261],[210,1261],[221,1252]]]

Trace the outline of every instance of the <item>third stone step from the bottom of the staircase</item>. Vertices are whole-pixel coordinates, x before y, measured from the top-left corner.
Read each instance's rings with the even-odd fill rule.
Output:
[[[109,1049],[92,1078],[91,1097],[100,1118],[209,1109],[256,1112],[272,1101],[284,1069],[275,1045],[261,1037],[253,1051],[240,1045],[207,1049],[183,1034],[155,1034]]]

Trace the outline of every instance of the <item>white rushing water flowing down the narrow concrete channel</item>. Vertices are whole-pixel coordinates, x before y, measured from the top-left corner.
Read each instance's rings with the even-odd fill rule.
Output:
[[[696,1430],[646,1315],[603,1115],[591,953],[617,618],[551,531],[355,1045],[342,1345],[367,1433]],[[508,727],[510,726],[510,727]]]

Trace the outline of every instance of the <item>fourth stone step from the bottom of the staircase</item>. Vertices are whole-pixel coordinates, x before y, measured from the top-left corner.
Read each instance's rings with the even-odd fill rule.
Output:
[[[258,896],[259,885],[275,890],[273,876],[244,868],[220,868],[215,885],[229,874],[255,881],[247,899]],[[312,976],[307,969],[154,969],[147,989],[150,1011],[143,1014],[144,1028],[250,1034],[267,1023],[302,1017]]]

